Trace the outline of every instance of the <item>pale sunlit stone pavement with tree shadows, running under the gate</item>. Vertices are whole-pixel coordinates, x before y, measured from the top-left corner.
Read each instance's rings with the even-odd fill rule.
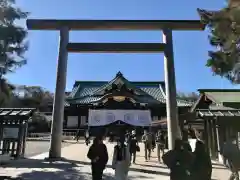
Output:
[[[104,171],[104,179],[112,180],[114,171],[111,169],[112,153],[114,144],[107,143],[109,162]],[[47,162],[44,158],[48,153],[43,153],[31,159],[14,161],[0,168],[1,176],[19,177],[26,180],[90,180],[90,161],[86,154],[88,148],[83,143],[72,144],[62,148],[62,156],[65,158],[59,162]],[[141,180],[168,180],[169,170],[166,166],[157,163],[156,152],[153,152],[149,162],[144,161],[143,146],[137,154],[136,165],[132,165],[129,172],[129,180],[141,178]],[[213,178],[225,180],[229,172],[220,164],[214,163]]]

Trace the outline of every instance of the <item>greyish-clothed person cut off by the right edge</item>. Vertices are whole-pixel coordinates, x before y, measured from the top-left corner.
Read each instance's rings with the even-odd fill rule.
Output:
[[[235,136],[230,137],[223,147],[223,156],[226,158],[228,168],[231,171],[229,180],[239,180],[240,150],[235,138]]]

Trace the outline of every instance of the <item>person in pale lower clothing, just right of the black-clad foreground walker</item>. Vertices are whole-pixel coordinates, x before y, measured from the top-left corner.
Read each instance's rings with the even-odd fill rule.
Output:
[[[115,180],[127,180],[130,161],[130,152],[121,137],[114,147],[112,167],[115,170]]]

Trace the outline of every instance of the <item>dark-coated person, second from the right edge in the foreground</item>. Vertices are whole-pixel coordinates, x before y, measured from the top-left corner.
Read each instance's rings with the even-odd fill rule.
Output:
[[[197,141],[195,147],[192,177],[194,180],[211,180],[212,163],[210,155],[202,141]]]

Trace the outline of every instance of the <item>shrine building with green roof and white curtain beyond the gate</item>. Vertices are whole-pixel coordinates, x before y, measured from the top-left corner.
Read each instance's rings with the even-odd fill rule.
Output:
[[[178,113],[192,103],[177,100]],[[165,121],[164,121],[165,120]],[[166,124],[163,81],[129,81],[121,72],[110,81],[76,81],[67,96],[64,130],[113,125],[159,127]]]

